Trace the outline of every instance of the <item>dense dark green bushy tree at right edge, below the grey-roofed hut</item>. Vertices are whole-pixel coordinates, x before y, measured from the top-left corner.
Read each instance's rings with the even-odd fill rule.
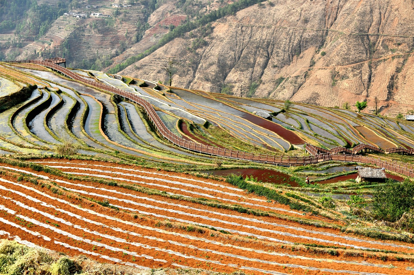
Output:
[[[409,180],[387,180],[375,188],[372,213],[375,218],[395,222],[414,208],[414,183]]]

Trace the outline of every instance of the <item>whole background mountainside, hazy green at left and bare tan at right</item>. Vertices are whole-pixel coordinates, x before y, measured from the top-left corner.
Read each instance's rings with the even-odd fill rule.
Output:
[[[376,98],[380,113],[390,116],[414,109],[412,2],[244,1],[202,23],[203,15],[232,2],[130,0],[125,8],[111,0],[42,2],[25,0],[16,21],[13,13],[4,17],[1,59],[58,55],[73,67],[163,82],[171,59],[180,87],[326,107],[367,100],[370,111]],[[63,15],[69,11],[111,18]],[[197,23],[161,41],[188,22]]]

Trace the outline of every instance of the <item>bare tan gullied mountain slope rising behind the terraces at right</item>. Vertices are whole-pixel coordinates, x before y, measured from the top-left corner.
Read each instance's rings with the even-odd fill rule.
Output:
[[[198,30],[176,38],[121,73],[164,81],[172,58],[181,62],[177,86],[228,85],[235,95],[330,107],[367,99],[368,110],[377,97],[383,114],[404,113],[414,109],[413,9],[396,0],[267,1],[219,19],[206,37]]]

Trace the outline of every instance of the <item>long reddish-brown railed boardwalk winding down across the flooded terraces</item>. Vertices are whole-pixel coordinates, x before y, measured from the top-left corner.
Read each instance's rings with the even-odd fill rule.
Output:
[[[34,63],[34,64],[46,66],[52,70],[62,73],[64,76],[68,78],[72,78],[76,81],[80,81],[84,84],[90,85],[95,88],[103,89],[108,92],[113,92],[123,98],[126,98],[132,102],[135,102],[141,105],[145,109],[145,111],[148,114],[149,119],[152,121],[152,123],[154,123],[156,130],[158,130],[159,133],[161,133],[161,135],[164,138],[171,141],[175,145],[178,145],[186,149],[190,149],[195,152],[200,152],[200,153],[210,154],[210,155],[215,155],[215,156],[223,156],[223,157],[228,157],[228,158],[233,158],[233,159],[260,161],[260,162],[270,163],[270,164],[304,165],[304,164],[313,164],[313,163],[318,163],[321,161],[330,161],[330,160],[344,161],[344,162],[347,162],[347,161],[360,162],[360,163],[366,163],[366,164],[374,164],[374,165],[386,168],[388,170],[401,173],[401,174],[414,178],[414,170],[413,170],[412,165],[409,165],[409,164],[396,165],[392,162],[383,161],[380,159],[375,159],[375,158],[366,157],[366,156],[333,154],[331,152],[327,152],[325,154],[314,154],[311,156],[303,156],[303,157],[276,156],[276,155],[269,155],[269,154],[255,154],[251,152],[236,151],[232,149],[214,147],[214,146],[209,146],[209,145],[204,145],[201,143],[189,141],[189,140],[183,139],[182,137],[179,137],[178,135],[173,133],[170,129],[168,129],[166,125],[164,124],[164,122],[159,117],[159,115],[156,113],[154,107],[152,107],[152,105],[147,100],[144,100],[139,95],[136,95],[132,92],[128,92],[125,90],[121,90],[119,88],[116,88],[110,85],[97,83],[96,81],[91,81],[89,79],[86,79],[80,76],[79,74],[76,74],[62,66],[59,66],[58,64],[54,64],[53,60],[55,59],[48,59],[48,61],[19,60],[19,61],[9,61],[9,63]],[[47,99],[45,99],[45,101],[46,100]],[[367,146],[370,146],[370,145],[367,145]],[[306,145],[306,150],[308,152],[311,152],[311,154],[312,152],[315,152],[315,150],[316,152],[318,152],[318,149],[315,149],[315,148],[318,148],[318,147],[315,147],[309,144]],[[378,149],[378,148],[375,148],[375,149]]]

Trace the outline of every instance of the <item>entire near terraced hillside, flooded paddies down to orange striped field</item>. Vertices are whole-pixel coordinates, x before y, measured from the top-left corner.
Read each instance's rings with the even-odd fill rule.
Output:
[[[0,274],[414,275],[412,121],[64,58],[0,104]]]

